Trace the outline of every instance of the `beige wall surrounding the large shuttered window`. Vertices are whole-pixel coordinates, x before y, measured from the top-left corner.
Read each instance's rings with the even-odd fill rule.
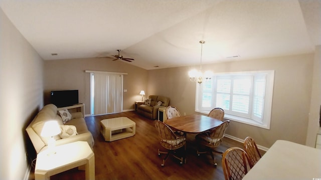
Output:
[[[244,139],[255,138],[258,144],[270,147],[275,140],[305,143],[310,106],[313,54],[234,61],[203,65],[214,72],[275,70],[271,128],[264,129],[232,121],[227,133]],[[189,67],[148,71],[148,94],[171,98],[171,105],[180,112],[195,113],[196,84],[188,79]]]

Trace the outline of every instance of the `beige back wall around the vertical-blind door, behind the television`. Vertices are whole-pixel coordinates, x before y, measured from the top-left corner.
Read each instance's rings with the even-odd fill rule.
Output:
[[[133,109],[135,100],[141,100],[140,90],[147,88],[147,70],[106,58],[45,60],[45,104],[50,103],[50,90],[78,89],[79,102],[85,103],[90,114],[90,73],[85,70],[127,72],[123,78],[123,110]]]

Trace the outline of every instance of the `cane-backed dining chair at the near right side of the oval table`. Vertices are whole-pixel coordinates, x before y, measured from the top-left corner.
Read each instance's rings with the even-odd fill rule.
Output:
[[[199,143],[199,146],[205,146],[205,151],[200,151],[197,149],[197,155],[200,155],[201,153],[210,153],[212,156],[214,166],[217,166],[216,158],[213,155],[213,152],[222,154],[223,152],[216,150],[215,148],[218,147],[221,142],[222,138],[224,137],[224,133],[230,123],[230,120],[225,120],[222,124],[219,126],[210,129],[209,131],[199,133],[195,136],[196,140]],[[199,148],[201,148],[199,147]]]

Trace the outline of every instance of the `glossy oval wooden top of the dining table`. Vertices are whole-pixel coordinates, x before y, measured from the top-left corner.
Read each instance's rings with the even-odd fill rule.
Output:
[[[186,133],[200,133],[217,127],[222,121],[201,114],[178,116],[164,121],[167,125]]]

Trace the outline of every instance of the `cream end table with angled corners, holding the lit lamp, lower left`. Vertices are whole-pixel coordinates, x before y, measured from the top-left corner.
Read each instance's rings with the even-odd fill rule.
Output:
[[[56,146],[56,153],[44,150],[37,155],[35,180],[50,179],[51,175],[85,166],[85,179],[95,179],[95,155],[86,141]]]

